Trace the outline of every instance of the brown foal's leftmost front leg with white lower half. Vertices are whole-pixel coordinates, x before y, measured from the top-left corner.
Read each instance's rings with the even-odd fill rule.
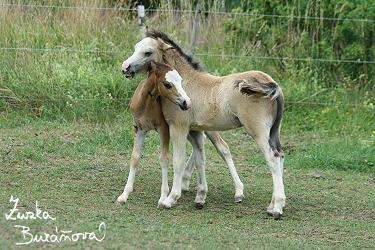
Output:
[[[134,134],[134,147],[130,161],[130,172],[128,181],[126,182],[126,186],[124,188],[124,192],[117,198],[117,203],[125,203],[129,197],[129,194],[133,192],[133,184],[135,173],[137,171],[137,167],[142,155],[142,147],[145,140],[147,131],[140,130],[138,127],[133,128]]]

